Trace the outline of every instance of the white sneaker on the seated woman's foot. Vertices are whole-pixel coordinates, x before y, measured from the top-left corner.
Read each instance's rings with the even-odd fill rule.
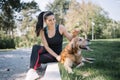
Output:
[[[39,75],[34,69],[30,69],[27,74],[26,74],[26,79],[25,80],[35,80],[38,79]]]

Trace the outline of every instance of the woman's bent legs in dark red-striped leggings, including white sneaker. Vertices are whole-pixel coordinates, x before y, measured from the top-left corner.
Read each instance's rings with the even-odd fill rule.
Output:
[[[50,55],[43,46],[34,45],[32,48],[32,54],[30,57],[30,70],[27,72],[25,80],[35,80],[40,76],[36,72],[36,69],[41,63],[54,62],[56,59]]]

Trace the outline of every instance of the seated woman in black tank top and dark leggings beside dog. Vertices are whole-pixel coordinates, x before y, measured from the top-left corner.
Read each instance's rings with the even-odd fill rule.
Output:
[[[46,24],[46,27],[43,27],[43,23]],[[74,30],[73,32],[76,33],[76,35],[79,33],[78,30]],[[40,67],[41,63],[60,61],[59,55],[62,51],[63,36],[69,41],[75,36],[68,33],[63,25],[57,25],[55,16],[50,11],[39,14],[36,34],[41,37],[43,46],[34,45],[32,48],[30,70],[27,76],[34,75],[34,79],[39,77],[36,69]]]

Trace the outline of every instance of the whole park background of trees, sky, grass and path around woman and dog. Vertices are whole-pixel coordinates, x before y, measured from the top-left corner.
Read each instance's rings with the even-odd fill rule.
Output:
[[[24,80],[31,47],[41,44],[35,27],[41,11],[53,11],[57,24],[91,39],[94,51],[82,52],[96,60],[68,74],[59,64],[62,80],[120,79],[119,0],[0,0],[0,79]],[[67,44],[64,38],[63,47]],[[19,63],[19,65],[18,65]]]

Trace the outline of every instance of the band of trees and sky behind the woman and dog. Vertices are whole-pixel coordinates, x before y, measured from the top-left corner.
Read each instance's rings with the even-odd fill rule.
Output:
[[[43,3],[45,0],[41,1],[0,1],[0,49],[31,47],[34,44],[40,44],[40,37],[35,35],[35,26],[43,7],[45,11],[53,11],[57,23],[63,24],[68,31],[79,28],[80,36],[92,40],[120,38],[119,16],[118,19],[111,18],[111,13],[104,10],[96,3],[97,1],[50,0],[47,2],[46,0],[45,4]],[[40,3],[42,3],[41,6]],[[118,5],[119,1],[115,0],[115,3]],[[114,8],[112,6],[115,4],[111,4],[110,9]]]

